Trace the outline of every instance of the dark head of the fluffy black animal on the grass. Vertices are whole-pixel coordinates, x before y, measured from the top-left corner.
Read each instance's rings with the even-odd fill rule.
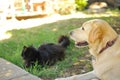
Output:
[[[33,46],[23,47],[21,56],[24,59],[25,67],[29,67],[34,64],[37,59],[37,54],[38,51]]]

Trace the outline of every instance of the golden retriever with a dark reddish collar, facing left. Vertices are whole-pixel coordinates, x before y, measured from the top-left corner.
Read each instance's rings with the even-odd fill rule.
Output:
[[[76,46],[89,46],[94,73],[101,80],[120,80],[120,36],[104,20],[89,20],[70,32]]]

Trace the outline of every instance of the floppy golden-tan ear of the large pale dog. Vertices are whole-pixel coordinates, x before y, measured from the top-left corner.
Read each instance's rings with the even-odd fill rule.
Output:
[[[100,25],[94,24],[92,25],[92,29],[89,32],[89,42],[94,43],[96,40],[101,40],[102,39],[102,29]]]

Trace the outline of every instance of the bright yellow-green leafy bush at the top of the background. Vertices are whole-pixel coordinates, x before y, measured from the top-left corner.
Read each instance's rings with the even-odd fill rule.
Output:
[[[76,9],[78,11],[81,11],[87,5],[87,0],[75,0],[75,4],[76,4]]]

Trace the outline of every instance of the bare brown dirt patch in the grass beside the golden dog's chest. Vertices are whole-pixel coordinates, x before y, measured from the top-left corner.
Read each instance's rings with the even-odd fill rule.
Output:
[[[79,61],[74,63],[70,68],[65,70],[64,77],[72,76],[76,74],[86,73],[92,70],[91,65],[91,55],[88,51],[84,52],[82,56],[79,57]]]

